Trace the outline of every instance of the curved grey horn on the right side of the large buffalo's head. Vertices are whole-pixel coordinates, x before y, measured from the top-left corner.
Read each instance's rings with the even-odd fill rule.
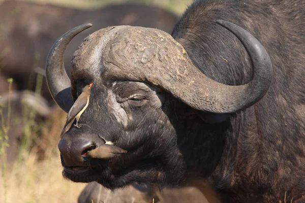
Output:
[[[261,43],[248,31],[223,20],[219,24],[230,30],[243,44],[252,60],[253,79],[245,85],[231,86],[209,79],[191,64],[187,85],[177,88],[175,81],[169,91],[194,109],[211,113],[234,113],[259,101],[267,92],[272,76],[269,55]],[[193,81],[193,83],[191,82]]]

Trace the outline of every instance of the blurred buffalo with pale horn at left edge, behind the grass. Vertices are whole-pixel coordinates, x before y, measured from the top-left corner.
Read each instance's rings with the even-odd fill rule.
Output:
[[[9,105],[10,110],[8,108]],[[7,133],[8,135],[9,147],[6,149],[8,163],[11,164],[15,161],[20,149],[20,143],[24,141],[24,138],[28,143],[35,139],[28,129],[33,129],[32,125],[39,123],[40,129],[36,127],[36,130],[33,129],[33,131],[42,133],[42,124],[55,112],[58,112],[57,110],[58,108],[55,105],[50,107],[45,98],[33,91],[22,90],[1,94],[0,123],[2,123],[2,126],[0,133]],[[51,138],[48,138],[46,143],[50,144],[50,140]],[[37,149],[41,152],[40,157],[43,156],[43,152],[46,149],[45,143],[41,141],[42,136],[40,136],[40,139],[35,140]],[[0,157],[1,161],[2,157]]]

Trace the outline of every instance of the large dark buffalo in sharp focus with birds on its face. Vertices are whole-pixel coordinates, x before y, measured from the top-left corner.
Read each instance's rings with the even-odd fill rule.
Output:
[[[68,112],[94,86],[81,127],[58,144],[64,177],[108,188],[202,178],[223,202],[304,202],[304,14],[302,0],[195,1],[171,36],[132,26],[92,33],[71,81],[63,55],[90,24],[68,31],[47,59],[50,92]],[[86,156],[104,140],[128,153]]]

